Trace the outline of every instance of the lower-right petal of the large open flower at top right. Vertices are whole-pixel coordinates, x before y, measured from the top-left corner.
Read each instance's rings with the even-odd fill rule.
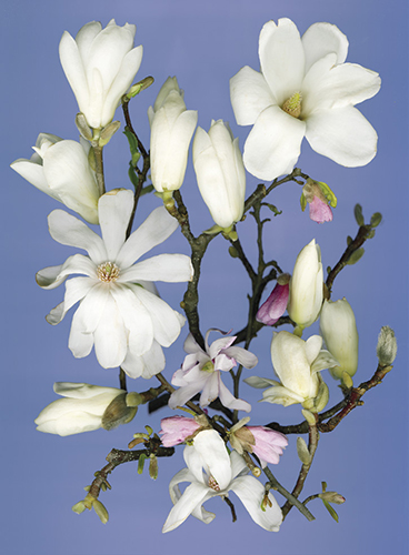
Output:
[[[316,152],[347,168],[366,165],[377,153],[377,132],[352,107],[315,112],[306,138]]]

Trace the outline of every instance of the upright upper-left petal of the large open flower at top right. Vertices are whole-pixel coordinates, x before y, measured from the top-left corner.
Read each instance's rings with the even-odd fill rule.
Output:
[[[295,23],[279,19],[278,26],[268,21],[259,39],[261,72],[278,105],[300,91],[305,75],[305,53]]]

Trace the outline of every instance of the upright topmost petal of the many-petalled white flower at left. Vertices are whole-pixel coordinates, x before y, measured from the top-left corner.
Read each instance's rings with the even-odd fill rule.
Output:
[[[133,193],[114,189],[103,194],[98,203],[99,223],[107,249],[108,260],[114,261],[122,248],[133,210]]]

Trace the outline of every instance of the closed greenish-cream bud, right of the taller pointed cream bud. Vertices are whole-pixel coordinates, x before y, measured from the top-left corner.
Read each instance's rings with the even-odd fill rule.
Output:
[[[333,377],[350,376],[358,369],[358,330],[355,314],[347,299],[323,301],[320,315],[320,333],[327,349],[337,359],[339,365],[330,370]]]

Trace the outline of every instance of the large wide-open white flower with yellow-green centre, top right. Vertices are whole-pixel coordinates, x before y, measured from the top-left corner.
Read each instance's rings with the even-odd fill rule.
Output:
[[[319,154],[355,168],[377,152],[377,133],[355,104],[380,88],[378,73],[343,63],[348,40],[330,23],[302,36],[289,19],[260,32],[261,72],[248,65],[230,80],[239,125],[253,125],[245,144],[247,170],[262,180],[289,173],[303,137]]]

